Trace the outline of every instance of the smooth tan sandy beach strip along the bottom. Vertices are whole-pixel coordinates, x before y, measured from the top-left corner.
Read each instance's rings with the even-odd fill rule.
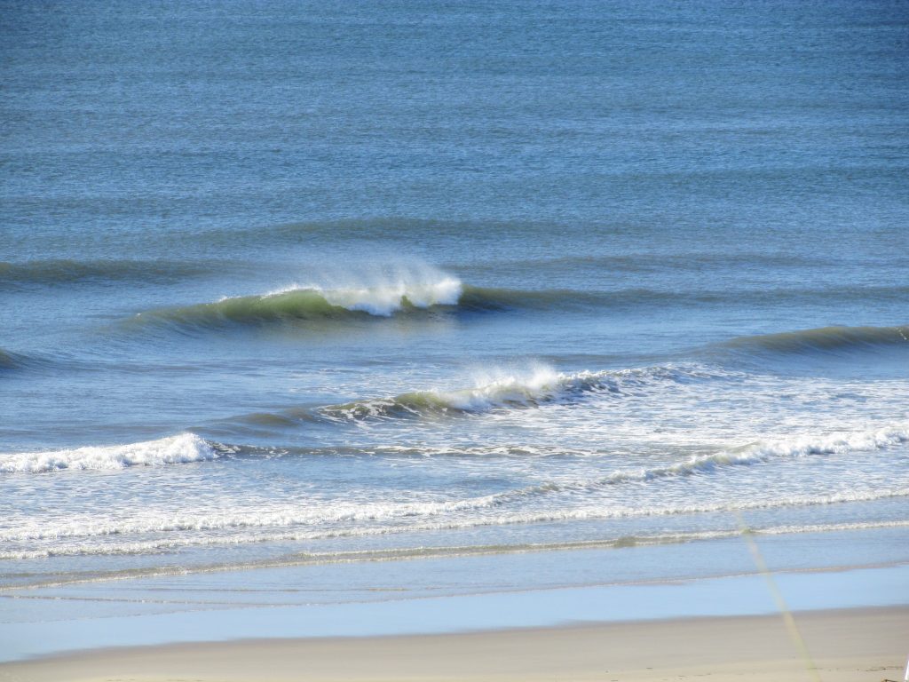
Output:
[[[781,617],[760,616],[106,649],[6,664],[0,679],[902,679],[909,607],[804,612],[796,620],[816,670],[808,667]]]

